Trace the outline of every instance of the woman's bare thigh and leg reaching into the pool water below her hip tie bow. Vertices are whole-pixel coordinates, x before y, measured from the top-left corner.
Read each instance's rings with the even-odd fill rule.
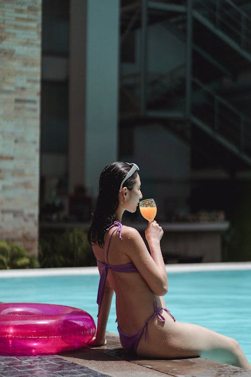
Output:
[[[174,322],[171,318],[166,318],[165,322],[154,318],[149,323],[147,341],[144,341],[144,336],[141,338],[137,354],[166,358],[204,356],[213,359],[220,354],[224,357],[221,362],[251,370],[236,340],[202,326]]]

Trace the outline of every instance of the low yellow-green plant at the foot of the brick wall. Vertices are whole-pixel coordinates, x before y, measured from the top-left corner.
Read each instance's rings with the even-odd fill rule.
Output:
[[[37,268],[39,262],[35,255],[16,243],[0,241],[0,269]]]

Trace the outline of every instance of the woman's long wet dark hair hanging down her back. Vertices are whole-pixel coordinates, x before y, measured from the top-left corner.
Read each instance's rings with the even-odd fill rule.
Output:
[[[115,211],[118,207],[120,184],[132,166],[133,164],[118,161],[107,165],[101,172],[96,209],[92,214],[88,230],[88,240],[91,245],[104,246],[105,232],[117,220]],[[137,171],[123,183],[123,187],[132,190],[136,178]]]

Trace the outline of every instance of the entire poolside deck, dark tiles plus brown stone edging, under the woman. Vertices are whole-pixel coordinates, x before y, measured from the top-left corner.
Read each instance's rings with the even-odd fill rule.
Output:
[[[136,358],[124,352],[117,335],[107,345],[52,356],[0,356],[0,377],[251,377],[251,371],[195,357],[178,360]]]

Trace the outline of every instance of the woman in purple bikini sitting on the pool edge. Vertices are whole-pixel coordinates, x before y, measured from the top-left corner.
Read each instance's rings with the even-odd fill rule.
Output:
[[[146,229],[150,253],[134,228],[122,226],[124,211],[137,210],[142,199],[136,164],[114,162],[99,179],[99,195],[88,232],[100,272],[98,322],[93,346],[106,343],[105,330],[113,291],[121,345],[141,357],[184,358],[221,351],[229,363],[251,370],[232,338],[198,325],[180,323],[167,310],[163,296],[168,280],[154,221]],[[227,362],[227,361],[225,361]]]

